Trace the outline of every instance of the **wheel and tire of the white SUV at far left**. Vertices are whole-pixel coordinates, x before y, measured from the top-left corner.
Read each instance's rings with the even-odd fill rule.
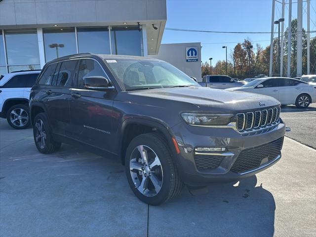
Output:
[[[12,106],[6,114],[6,120],[15,129],[27,128],[30,125],[29,107],[22,104]]]

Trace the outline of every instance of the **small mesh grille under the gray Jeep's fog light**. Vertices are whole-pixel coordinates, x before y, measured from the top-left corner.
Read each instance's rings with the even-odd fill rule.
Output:
[[[216,169],[222,162],[223,156],[208,156],[208,155],[195,155],[194,159],[196,162],[198,171],[209,171]]]

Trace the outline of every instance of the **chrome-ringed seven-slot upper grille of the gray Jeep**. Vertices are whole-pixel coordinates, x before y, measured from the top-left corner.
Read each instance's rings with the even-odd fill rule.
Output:
[[[280,118],[280,107],[238,113],[236,118],[237,130],[239,132],[249,132],[276,125]]]

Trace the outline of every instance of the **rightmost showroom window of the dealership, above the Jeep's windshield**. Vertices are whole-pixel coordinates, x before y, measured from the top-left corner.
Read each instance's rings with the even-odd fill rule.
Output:
[[[142,55],[142,32],[137,26],[111,28],[112,53],[120,55]]]

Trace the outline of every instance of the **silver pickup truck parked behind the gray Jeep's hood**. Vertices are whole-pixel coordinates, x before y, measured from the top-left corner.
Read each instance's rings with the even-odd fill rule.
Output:
[[[246,82],[237,81],[225,75],[207,75],[202,78],[202,82],[198,82],[201,86],[226,89],[230,87],[242,86]]]

